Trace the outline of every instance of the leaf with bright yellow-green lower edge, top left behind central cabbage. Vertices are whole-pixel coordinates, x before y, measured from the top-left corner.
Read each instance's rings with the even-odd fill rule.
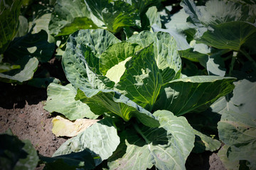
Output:
[[[76,30],[89,28],[97,28],[97,26],[90,19],[90,11],[85,1],[56,1],[49,25],[51,34],[69,35]]]

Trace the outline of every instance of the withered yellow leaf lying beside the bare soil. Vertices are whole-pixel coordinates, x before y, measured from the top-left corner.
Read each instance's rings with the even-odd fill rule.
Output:
[[[53,118],[53,134],[56,136],[74,137],[84,131],[99,120],[94,119],[77,119],[70,121],[60,115]]]

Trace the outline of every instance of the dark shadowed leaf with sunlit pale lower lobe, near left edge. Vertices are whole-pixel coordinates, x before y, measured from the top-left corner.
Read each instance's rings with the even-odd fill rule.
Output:
[[[4,62],[20,65],[20,68],[1,74],[1,81],[23,82],[32,79],[38,62],[48,62],[54,49],[55,45],[48,42],[48,35],[45,30],[15,38],[4,53]]]

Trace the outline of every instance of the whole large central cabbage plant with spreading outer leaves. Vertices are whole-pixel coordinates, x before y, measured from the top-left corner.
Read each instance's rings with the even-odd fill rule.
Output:
[[[220,142],[194,130],[182,115],[205,111],[233,91],[233,77],[181,74],[169,33],[143,31],[120,41],[103,29],[70,35],[63,69],[70,84],[50,84],[45,109],[101,119],[53,155],[89,149],[107,169],[185,169],[195,136],[213,151]]]

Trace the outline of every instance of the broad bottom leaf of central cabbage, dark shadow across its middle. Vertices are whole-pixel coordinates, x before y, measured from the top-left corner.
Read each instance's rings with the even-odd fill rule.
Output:
[[[186,118],[156,111],[159,128],[135,125],[120,134],[121,144],[108,159],[110,169],[186,169],[195,135]]]

